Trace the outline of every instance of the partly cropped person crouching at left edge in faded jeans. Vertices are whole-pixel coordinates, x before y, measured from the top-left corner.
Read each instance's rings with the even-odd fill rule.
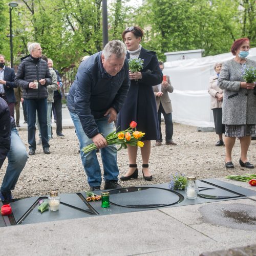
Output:
[[[28,159],[26,147],[19,138],[14,118],[10,116],[6,101],[0,98],[0,169],[8,158],[8,166],[0,189],[0,199],[12,199],[11,190],[14,189],[18,177]]]

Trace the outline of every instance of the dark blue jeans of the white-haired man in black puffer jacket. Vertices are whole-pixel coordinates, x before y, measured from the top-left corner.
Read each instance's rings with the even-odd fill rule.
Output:
[[[24,99],[24,106],[27,112],[28,121],[28,143],[29,148],[36,149],[35,141],[35,121],[36,111],[40,125],[42,147],[50,147],[47,132],[47,99]]]

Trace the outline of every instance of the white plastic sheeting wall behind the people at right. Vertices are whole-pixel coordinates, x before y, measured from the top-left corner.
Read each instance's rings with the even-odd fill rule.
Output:
[[[233,58],[231,53],[165,62],[164,74],[170,76],[174,92],[169,94],[173,105],[173,121],[199,127],[214,127],[208,94],[209,77],[215,74],[216,62]],[[248,58],[256,60],[256,48]]]

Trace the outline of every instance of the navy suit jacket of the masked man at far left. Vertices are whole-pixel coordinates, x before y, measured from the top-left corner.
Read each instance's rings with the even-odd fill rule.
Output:
[[[5,66],[4,79],[6,84],[4,84],[5,96],[9,103],[16,102],[15,94],[13,88],[16,88],[14,82],[15,73],[14,70]]]

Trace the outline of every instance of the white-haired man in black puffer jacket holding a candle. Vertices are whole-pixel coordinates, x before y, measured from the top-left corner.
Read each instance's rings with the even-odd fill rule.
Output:
[[[47,62],[41,59],[42,49],[37,42],[33,42],[28,50],[30,55],[22,58],[15,77],[17,86],[23,88],[24,106],[28,121],[29,155],[36,150],[35,122],[36,111],[41,129],[42,148],[45,154],[50,154],[47,131],[47,86],[52,79]]]

